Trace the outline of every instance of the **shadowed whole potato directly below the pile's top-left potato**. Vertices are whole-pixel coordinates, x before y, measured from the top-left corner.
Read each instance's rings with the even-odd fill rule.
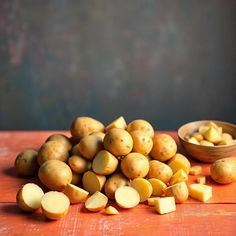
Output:
[[[85,136],[80,140],[78,148],[84,158],[93,160],[95,155],[103,149],[103,139],[94,134]]]

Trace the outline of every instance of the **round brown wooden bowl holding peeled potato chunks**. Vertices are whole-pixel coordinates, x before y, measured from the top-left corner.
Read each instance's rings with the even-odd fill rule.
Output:
[[[236,143],[209,147],[192,144],[185,140],[187,135],[192,135],[200,126],[206,125],[210,121],[215,122],[218,126],[223,128],[223,132],[231,134],[233,138],[236,139],[236,125],[234,124],[217,120],[193,121],[178,129],[179,140],[186,152],[195,159],[206,163],[212,163],[218,159],[229,157],[234,154],[236,155]]]

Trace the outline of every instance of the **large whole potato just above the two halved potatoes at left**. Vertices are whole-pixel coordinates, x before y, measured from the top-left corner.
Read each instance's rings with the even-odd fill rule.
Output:
[[[61,191],[71,182],[72,171],[62,161],[49,160],[40,166],[38,176],[40,181],[50,190]]]

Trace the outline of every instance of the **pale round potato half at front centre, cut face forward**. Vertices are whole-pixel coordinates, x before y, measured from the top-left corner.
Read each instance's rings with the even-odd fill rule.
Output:
[[[115,192],[115,200],[117,205],[122,208],[133,208],[139,204],[140,196],[134,188],[121,186]]]

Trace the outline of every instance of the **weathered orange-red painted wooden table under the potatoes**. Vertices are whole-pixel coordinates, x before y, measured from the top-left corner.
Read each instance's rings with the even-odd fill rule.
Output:
[[[68,215],[49,221],[41,212],[22,213],[15,202],[19,187],[35,179],[16,175],[14,160],[25,148],[38,149],[53,131],[0,132],[0,235],[236,235],[236,183],[213,186],[208,203],[189,199],[177,210],[158,215],[153,208],[140,204],[134,209],[120,209],[120,214],[107,216],[102,211],[90,213],[83,204],[72,205]],[[68,132],[61,132],[68,134]],[[165,132],[176,141],[176,132]],[[179,147],[179,152],[183,152]],[[192,161],[192,164],[201,164]],[[201,164],[209,175],[209,165]],[[190,178],[194,182],[195,177]],[[111,204],[114,204],[111,202]]]

